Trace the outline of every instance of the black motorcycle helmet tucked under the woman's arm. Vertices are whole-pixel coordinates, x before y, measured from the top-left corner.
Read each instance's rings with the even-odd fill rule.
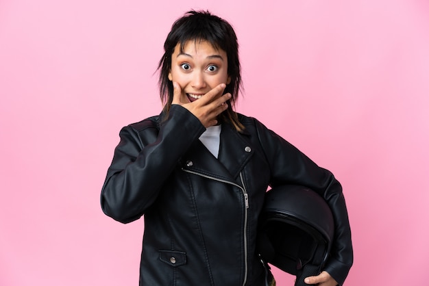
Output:
[[[265,195],[258,226],[262,261],[297,276],[317,275],[328,258],[334,219],[328,204],[301,185],[273,187]]]

